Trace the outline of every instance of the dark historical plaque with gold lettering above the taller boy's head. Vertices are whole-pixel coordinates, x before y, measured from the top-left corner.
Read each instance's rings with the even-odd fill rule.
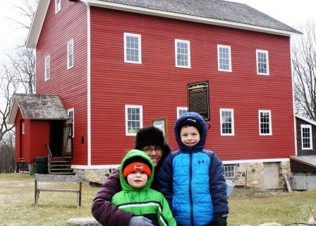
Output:
[[[209,81],[188,83],[188,110],[209,121]]]

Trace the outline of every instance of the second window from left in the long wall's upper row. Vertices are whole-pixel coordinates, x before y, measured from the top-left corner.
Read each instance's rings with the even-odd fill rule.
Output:
[[[175,40],[176,67],[190,69],[190,41]]]

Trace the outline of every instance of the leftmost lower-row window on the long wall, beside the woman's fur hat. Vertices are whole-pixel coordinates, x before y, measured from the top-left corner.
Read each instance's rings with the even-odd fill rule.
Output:
[[[135,136],[142,128],[142,106],[125,105],[126,136]]]

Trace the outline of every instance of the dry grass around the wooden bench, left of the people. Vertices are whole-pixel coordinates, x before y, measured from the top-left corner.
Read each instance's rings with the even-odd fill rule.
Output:
[[[39,182],[41,187],[56,187]],[[58,184],[70,189],[76,184]],[[0,174],[0,225],[65,225],[68,218],[92,217],[91,203],[98,188],[83,183],[82,206],[76,208],[76,194],[42,192],[39,206],[34,206],[34,176],[29,174]]]

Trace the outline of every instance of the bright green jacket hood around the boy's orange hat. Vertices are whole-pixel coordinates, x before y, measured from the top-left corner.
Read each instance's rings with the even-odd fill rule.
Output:
[[[127,180],[123,177],[123,167],[125,165],[125,162],[132,157],[142,157],[143,159],[145,159],[147,162],[150,163],[151,169],[152,169],[152,174],[148,178],[147,184],[145,184],[145,186],[142,186],[139,189],[135,189],[134,187],[130,186],[128,184]],[[137,149],[130,150],[125,155],[125,157],[123,158],[123,160],[121,162],[120,182],[121,182],[121,186],[122,186],[123,190],[124,191],[145,191],[145,190],[150,188],[150,185],[152,184],[153,179],[154,179],[154,163],[152,163],[152,160],[150,159],[150,157],[146,153],[144,153],[142,150],[137,150]]]

